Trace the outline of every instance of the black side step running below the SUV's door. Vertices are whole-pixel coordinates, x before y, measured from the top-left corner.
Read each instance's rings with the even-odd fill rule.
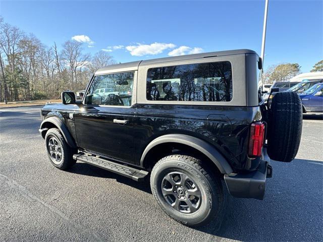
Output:
[[[116,163],[116,162],[113,162],[110,160],[105,160],[102,158],[98,158],[96,156],[75,154],[75,155],[73,155],[73,159],[97,166],[97,167],[105,169],[105,170],[115,172],[119,175],[123,175],[123,176],[129,177],[129,178],[132,178],[133,180],[136,180],[136,181],[143,179],[148,174],[147,171],[139,170],[139,169],[132,168],[132,167],[129,167],[126,165],[121,165],[119,163]]]

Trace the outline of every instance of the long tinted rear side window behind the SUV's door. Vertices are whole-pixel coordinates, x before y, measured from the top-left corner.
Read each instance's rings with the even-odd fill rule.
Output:
[[[146,98],[154,101],[231,101],[231,63],[214,62],[148,69]]]

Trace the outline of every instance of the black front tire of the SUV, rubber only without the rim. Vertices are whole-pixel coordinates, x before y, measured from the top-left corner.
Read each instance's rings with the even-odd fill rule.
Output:
[[[50,154],[50,148],[49,148],[49,140],[50,139],[57,140],[59,142],[59,145],[61,147],[61,160],[60,161],[54,161],[53,157]],[[72,149],[65,141],[64,137],[62,136],[61,132],[56,129],[52,128],[49,129],[45,135],[45,145],[46,145],[46,150],[47,150],[47,155],[50,160],[50,163],[61,169],[61,170],[67,170],[69,169],[72,165],[76,163],[76,161],[73,159],[73,154],[76,153],[75,149]]]

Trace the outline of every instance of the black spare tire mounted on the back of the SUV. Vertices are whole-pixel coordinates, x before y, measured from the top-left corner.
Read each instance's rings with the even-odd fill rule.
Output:
[[[295,92],[275,93],[269,110],[267,153],[273,160],[290,162],[302,134],[302,103]]]

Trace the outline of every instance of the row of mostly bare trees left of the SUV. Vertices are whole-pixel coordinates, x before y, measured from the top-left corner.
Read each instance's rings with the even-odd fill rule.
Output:
[[[62,90],[84,89],[97,69],[112,64],[107,52],[91,56],[75,40],[46,46],[0,17],[0,101],[59,98]]]

